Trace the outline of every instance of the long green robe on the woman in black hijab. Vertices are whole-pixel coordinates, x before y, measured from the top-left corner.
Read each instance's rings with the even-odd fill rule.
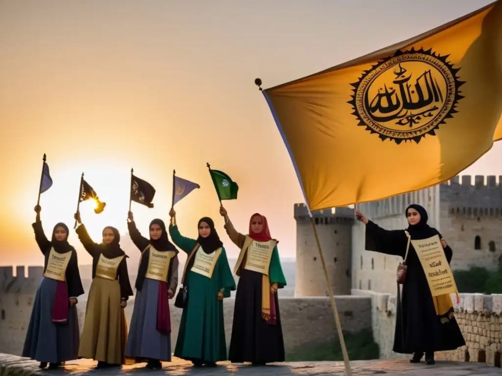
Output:
[[[182,236],[178,226],[169,226],[169,233],[173,242],[183,252],[190,254],[196,241]],[[225,248],[221,249],[211,279],[187,269],[185,285],[188,289],[188,304],[181,314],[174,356],[203,362],[226,360],[223,301],[217,300],[217,296],[218,291],[223,290],[223,297],[229,297],[230,291],[235,290],[235,280]]]

